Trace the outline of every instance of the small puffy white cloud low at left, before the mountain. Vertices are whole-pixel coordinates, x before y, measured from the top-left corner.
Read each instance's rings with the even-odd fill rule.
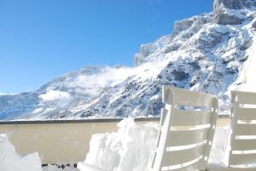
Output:
[[[44,101],[67,101],[70,100],[71,96],[67,92],[58,91],[58,90],[49,90],[46,94],[39,95]]]

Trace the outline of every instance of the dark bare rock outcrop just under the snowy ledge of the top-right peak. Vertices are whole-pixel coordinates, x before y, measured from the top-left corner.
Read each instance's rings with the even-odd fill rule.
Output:
[[[215,22],[219,25],[241,25],[243,19],[234,14],[218,14]]]

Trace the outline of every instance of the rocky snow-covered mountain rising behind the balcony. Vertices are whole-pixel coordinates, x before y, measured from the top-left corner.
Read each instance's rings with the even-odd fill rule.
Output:
[[[36,91],[0,94],[0,119],[157,116],[163,84],[217,94],[225,110],[255,37],[256,0],[213,6],[141,45],[134,67],[85,66]]]

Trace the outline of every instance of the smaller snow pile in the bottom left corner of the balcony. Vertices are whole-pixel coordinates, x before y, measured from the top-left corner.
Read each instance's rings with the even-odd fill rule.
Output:
[[[38,153],[20,157],[5,134],[0,134],[0,170],[1,171],[42,171]]]

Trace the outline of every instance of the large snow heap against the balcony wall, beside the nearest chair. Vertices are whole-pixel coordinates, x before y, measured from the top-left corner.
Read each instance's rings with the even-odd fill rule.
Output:
[[[158,124],[137,124],[132,118],[118,123],[113,133],[94,134],[84,162],[105,170],[144,171],[149,168]]]

